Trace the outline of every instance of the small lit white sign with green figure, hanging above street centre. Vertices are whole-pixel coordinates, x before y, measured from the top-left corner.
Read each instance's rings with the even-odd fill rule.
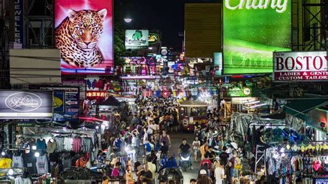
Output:
[[[143,49],[148,46],[148,30],[125,30],[125,48]]]

